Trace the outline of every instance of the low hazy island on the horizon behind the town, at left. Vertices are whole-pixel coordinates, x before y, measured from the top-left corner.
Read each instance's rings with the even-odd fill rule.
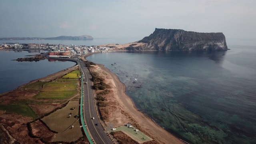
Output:
[[[0,40],[93,40],[92,36],[83,35],[83,36],[58,36],[53,38],[0,38]]]

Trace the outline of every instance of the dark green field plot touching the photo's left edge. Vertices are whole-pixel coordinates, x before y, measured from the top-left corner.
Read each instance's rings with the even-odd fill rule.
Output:
[[[38,117],[36,113],[26,104],[0,105],[0,110],[6,110],[7,112],[28,116],[33,119]]]

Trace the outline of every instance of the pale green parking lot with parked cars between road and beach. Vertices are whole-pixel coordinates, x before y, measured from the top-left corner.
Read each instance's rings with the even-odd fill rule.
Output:
[[[152,140],[152,138],[148,137],[146,134],[144,134],[143,132],[139,131],[135,131],[136,128],[129,128],[127,126],[120,126],[119,128],[116,128],[116,130],[110,130],[110,131],[122,131],[125,134],[127,134],[128,136],[130,136],[130,138],[136,140],[136,142],[138,143],[143,143],[143,142],[147,142]]]

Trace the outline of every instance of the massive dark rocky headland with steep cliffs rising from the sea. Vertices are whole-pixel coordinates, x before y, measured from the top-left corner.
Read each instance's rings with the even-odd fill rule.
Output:
[[[138,42],[144,46],[129,46],[126,50],[162,51],[226,51],[228,49],[224,34],[187,32],[176,29],[159,29]]]

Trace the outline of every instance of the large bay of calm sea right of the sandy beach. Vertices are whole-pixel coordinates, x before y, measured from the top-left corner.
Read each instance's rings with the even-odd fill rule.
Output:
[[[256,143],[256,44],[227,52],[109,52],[89,56],[126,86],[136,107],[190,143]],[[247,46],[246,46],[247,45]]]

